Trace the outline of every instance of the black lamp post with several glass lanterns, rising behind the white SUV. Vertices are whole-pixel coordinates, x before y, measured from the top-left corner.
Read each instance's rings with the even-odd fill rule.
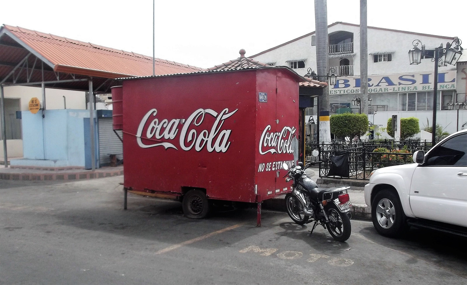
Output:
[[[424,58],[431,58],[435,63],[433,80],[433,125],[432,125],[432,145],[436,143],[436,111],[438,100],[438,67],[447,64],[456,65],[462,54],[462,42],[459,38],[454,38],[451,43],[446,43],[446,47],[441,44],[434,49],[425,49],[425,45],[420,40],[412,41],[413,48],[409,50],[410,64],[419,64]],[[420,44],[421,49],[418,48]]]

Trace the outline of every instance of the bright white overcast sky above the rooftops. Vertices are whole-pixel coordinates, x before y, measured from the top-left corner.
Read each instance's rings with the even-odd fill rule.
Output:
[[[368,26],[457,36],[467,48],[467,1],[450,2],[368,0]],[[152,0],[5,0],[0,21],[152,56]],[[360,0],[328,0],[327,21],[359,24]],[[235,59],[241,48],[249,56],[314,30],[311,0],[156,0],[156,57],[201,68]]]

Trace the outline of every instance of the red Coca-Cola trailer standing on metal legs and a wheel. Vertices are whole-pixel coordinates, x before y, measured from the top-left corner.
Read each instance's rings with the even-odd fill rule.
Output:
[[[210,202],[257,203],[290,191],[298,160],[298,82],[286,67],[122,80],[112,89],[123,132],[126,193],[174,198],[184,215]]]

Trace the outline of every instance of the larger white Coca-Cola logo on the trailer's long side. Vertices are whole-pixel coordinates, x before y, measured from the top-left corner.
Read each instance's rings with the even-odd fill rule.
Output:
[[[238,109],[235,109],[228,113],[229,109],[226,108],[220,113],[217,113],[212,109],[198,109],[186,120],[172,119],[169,121],[168,119],[163,119],[159,121],[158,118],[152,119],[151,117],[155,117],[157,115],[157,109],[151,109],[146,113],[146,115],[144,115],[140,125],[138,126],[136,141],[142,148],[163,146],[165,149],[178,149],[174,145],[173,141],[179,131],[179,125],[182,124],[183,127],[180,131],[178,144],[183,150],[190,150],[194,147],[197,151],[201,151],[201,149],[206,147],[209,152],[226,152],[230,145],[229,136],[232,130],[222,129],[222,125],[224,124],[224,121],[237,110]],[[212,115],[215,118],[215,122],[210,126],[206,126],[205,129],[200,131],[198,134],[197,130],[192,127],[193,125],[201,125],[205,120],[206,114]],[[142,136],[144,129],[146,130],[146,136]],[[145,144],[142,142],[142,138],[147,138],[158,143]]]

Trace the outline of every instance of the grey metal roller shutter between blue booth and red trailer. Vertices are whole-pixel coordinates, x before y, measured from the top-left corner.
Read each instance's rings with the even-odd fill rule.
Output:
[[[121,130],[117,132],[122,137]],[[99,167],[110,164],[110,154],[123,159],[123,144],[113,132],[112,118],[99,118]]]

